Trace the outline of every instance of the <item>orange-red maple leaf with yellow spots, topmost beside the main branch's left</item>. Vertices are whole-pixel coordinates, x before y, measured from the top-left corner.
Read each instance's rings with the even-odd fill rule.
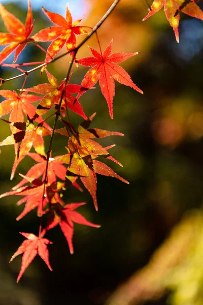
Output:
[[[45,58],[45,62],[47,63],[61,50],[65,43],[67,51],[75,49],[76,35],[87,34],[88,31],[86,31],[83,26],[78,26],[82,19],[72,23],[73,20],[68,5],[66,6],[66,19],[59,14],[47,11],[45,8],[42,9],[56,25],[42,29],[39,33],[32,36],[32,39],[42,42],[53,40],[47,49]]]

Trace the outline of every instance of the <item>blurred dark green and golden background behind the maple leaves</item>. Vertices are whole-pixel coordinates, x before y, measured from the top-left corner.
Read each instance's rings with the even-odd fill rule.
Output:
[[[26,0],[1,3],[24,23]],[[94,26],[112,3],[69,0],[73,19],[84,16],[81,24],[88,26]],[[35,0],[31,5],[36,19],[33,34],[51,26],[41,6],[65,15],[64,0]],[[97,112],[92,127],[125,134],[99,143],[117,144],[111,154],[123,168],[110,161],[108,165],[130,185],[98,176],[98,212],[86,190],[80,193],[72,187],[67,189],[65,203],[86,201],[87,205],[78,211],[101,228],[76,224],[74,255],[70,255],[60,229],[50,230],[46,237],[53,241],[49,246],[53,272],[38,256],[19,284],[16,278],[21,257],[11,264],[9,260],[23,241],[18,232],[37,234],[39,219],[33,210],[16,222],[23,206],[16,206],[15,196],[1,199],[0,304],[203,304],[203,23],[181,13],[178,44],[163,10],[142,22],[147,13],[144,0],[121,0],[98,31],[103,50],[113,38],[113,52],[141,51],[121,66],[145,95],[116,83],[114,120],[109,117],[98,84],[80,99],[86,115]],[[0,26],[1,32],[7,32],[2,20]],[[95,37],[87,45],[98,49]],[[83,46],[78,58],[89,55],[89,49]],[[6,63],[12,63],[12,59],[10,56]],[[44,54],[29,44],[18,63],[36,60],[44,60]],[[49,71],[58,81],[64,78],[69,60],[64,57],[50,65]],[[80,84],[87,70],[74,67],[70,83]],[[16,74],[13,69],[0,68],[2,78]],[[18,89],[22,82],[20,78],[1,89]],[[25,87],[44,82],[45,73],[40,76],[37,71],[28,77]],[[70,116],[77,128],[81,118],[73,113]],[[48,122],[53,125],[53,119]],[[0,121],[0,140],[9,134],[9,126]],[[53,156],[65,154],[65,141],[55,136]],[[20,181],[18,175],[10,181],[13,161],[13,147],[2,147],[0,193]],[[26,174],[33,162],[26,157],[17,171]]]

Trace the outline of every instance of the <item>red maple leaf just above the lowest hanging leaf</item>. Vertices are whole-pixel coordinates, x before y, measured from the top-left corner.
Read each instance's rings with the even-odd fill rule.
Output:
[[[80,225],[91,226],[94,228],[99,228],[99,225],[92,224],[87,221],[81,214],[74,211],[81,205],[86,204],[85,202],[80,203],[70,203],[66,204],[62,209],[55,208],[53,214],[50,216],[47,222],[46,228],[42,231],[42,236],[45,232],[54,228],[59,224],[66,240],[69,245],[70,253],[74,253],[73,249],[73,233],[74,233],[74,222]]]

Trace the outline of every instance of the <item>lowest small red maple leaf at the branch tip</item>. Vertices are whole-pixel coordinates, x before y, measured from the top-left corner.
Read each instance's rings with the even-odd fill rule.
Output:
[[[12,260],[16,256],[23,253],[22,264],[17,278],[17,283],[20,281],[20,278],[22,277],[25,269],[29,266],[29,264],[32,262],[32,260],[36,257],[37,254],[39,254],[39,256],[43,259],[48,268],[52,271],[52,268],[49,263],[49,251],[47,249],[47,245],[53,242],[46,238],[37,237],[35,234],[32,233],[20,232],[20,234],[22,234],[27,239],[21,243],[20,247],[14,253],[10,260],[10,262],[12,262]]]

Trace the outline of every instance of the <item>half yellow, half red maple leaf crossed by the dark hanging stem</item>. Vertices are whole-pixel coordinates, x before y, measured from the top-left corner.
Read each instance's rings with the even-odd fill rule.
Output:
[[[37,94],[45,95],[40,104],[37,107],[37,114],[42,115],[45,114],[53,104],[57,105],[60,102],[61,92],[63,88],[62,81],[60,85],[57,82],[57,79],[51,75],[48,70],[46,70],[47,78],[49,80],[49,84],[39,84],[32,88],[23,89],[24,91],[30,91]],[[71,77],[71,75],[70,75]],[[70,80],[69,77],[69,80]],[[65,93],[63,96],[62,104],[61,104],[61,112],[64,112],[66,107],[70,108],[72,111],[76,112],[77,114],[81,115],[84,119],[86,119],[86,115],[78,102],[78,100],[72,95],[74,93],[84,92],[86,89],[80,85],[76,84],[69,84],[65,86]]]

